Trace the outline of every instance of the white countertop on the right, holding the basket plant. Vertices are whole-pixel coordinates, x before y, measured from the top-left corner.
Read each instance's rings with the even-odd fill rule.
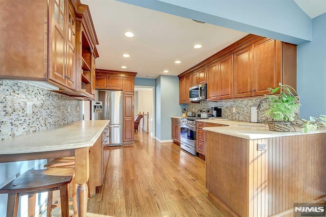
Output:
[[[295,128],[296,132],[295,131],[278,132],[278,131],[269,130],[268,126],[266,126],[265,128],[264,123],[229,121],[227,119],[220,119],[220,120],[204,119],[204,120],[197,120],[197,121],[228,125],[222,127],[204,127],[203,129],[212,132],[226,134],[226,135],[232,135],[234,137],[239,137],[248,140],[274,138],[274,137],[288,137],[291,135],[303,135],[303,133],[301,132],[301,128],[298,127]],[[310,131],[308,134],[315,134],[315,133],[326,133],[326,128],[313,130]]]

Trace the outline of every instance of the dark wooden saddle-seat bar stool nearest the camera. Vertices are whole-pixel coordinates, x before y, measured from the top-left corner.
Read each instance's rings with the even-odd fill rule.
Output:
[[[17,216],[20,196],[29,195],[29,202],[34,202],[34,207],[32,207],[32,204],[29,206],[30,215],[30,213],[35,213],[35,198],[33,195],[55,190],[60,190],[62,216],[68,217],[68,184],[71,182],[73,176],[52,175],[52,172],[50,170],[29,170],[2,187],[0,194],[8,194],[7,217]]]

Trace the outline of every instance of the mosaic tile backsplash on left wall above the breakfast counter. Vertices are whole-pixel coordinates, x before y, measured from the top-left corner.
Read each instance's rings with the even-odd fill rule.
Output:
[[[31,114],[28,114],[28,104],[32,104]],[[78,108],[79,100],[0,79],[0,139],[78,121]]]

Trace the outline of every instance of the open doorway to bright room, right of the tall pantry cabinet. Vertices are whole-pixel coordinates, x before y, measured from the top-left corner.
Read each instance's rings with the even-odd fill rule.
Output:
[[[134,116],[142,114],[140,130],[155,137],[155,87],[134,86]]]

